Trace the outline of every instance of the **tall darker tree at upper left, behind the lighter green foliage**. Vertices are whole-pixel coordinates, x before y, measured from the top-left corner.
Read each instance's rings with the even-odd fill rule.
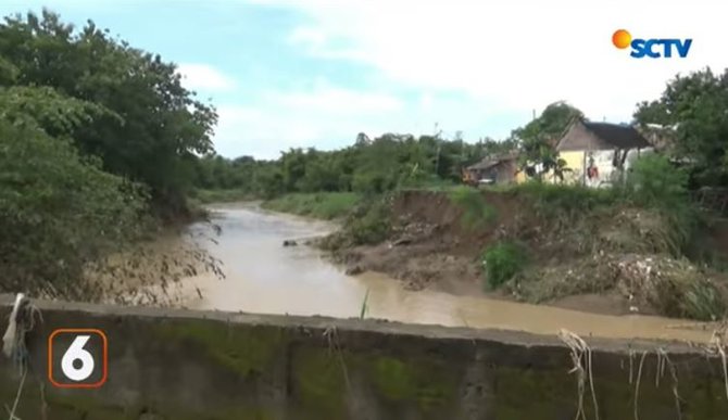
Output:
[[[83,153],[101,157],[106,170],[148,184],[160,215],[186,209],[194,156],[212,152],[217,116],[192,99],[174,64],[111,38],[92,22],[76,30],[47,10],[0,24],[0,58],[4,86],[52,88],[58,94],[48,106],[68,97],[84,101],[74,110],[93,106],[101,114],[75,122],[70,132]]]

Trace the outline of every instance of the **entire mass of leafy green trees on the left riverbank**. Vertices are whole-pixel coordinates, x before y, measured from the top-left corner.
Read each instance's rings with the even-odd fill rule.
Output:
[[[76,30],[48,11],[5,18],[0,289],[122,298],[124,273],[108,281],[95,276],[154,227],[152,209],[187,213],[186,186],[202,178],[198,155],[212,151],[215,122],[214,109],[181,87],[174,64],[110,38],[91,22]]]

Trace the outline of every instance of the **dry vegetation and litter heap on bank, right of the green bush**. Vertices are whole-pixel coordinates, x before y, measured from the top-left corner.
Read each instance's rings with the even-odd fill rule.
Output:
[[[655,211],[599,211],[531,240],[538,263],[513,277],[505,290],[537,303],[617,291],[636,311],[719,319],[728,302],[725,276],[690,260],[681,251],[685,243]]]

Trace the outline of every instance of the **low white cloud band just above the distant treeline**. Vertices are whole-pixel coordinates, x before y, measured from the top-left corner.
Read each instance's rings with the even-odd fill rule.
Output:
[[[430,133],[435,123],[453,133],[463,129],[470,138],[485,131],[499,115],[474,101],[426,97],[406,103],[387,92],[368,92],[319,82],[306,91],[268,92],[251,105],[222,104],[215,149],[224,156],[253,155],[275,158],[289,148],[330,150],[352,144],[356,133]]]

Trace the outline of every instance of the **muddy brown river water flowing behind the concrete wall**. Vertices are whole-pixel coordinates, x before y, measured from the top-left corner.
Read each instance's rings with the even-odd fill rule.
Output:
[[[216,244],[204,242],[223,263],[226,278],[186,280],[189,308],[231,311],[359,317],[367,296],[367,318],[412,323],[523,330],[555,334],[561,328],[580,335],[676,339],[706,342],[710,333],[690,322],[652,316],[607,316],[542,305],[407,291],[377,273],[351,277],[309,246],[284,247],[284,240],[325,234],[335,227],[321,221],[260,211],[253,205],[216,207],[222,228]],[[193,226],[191,229],[209,229]]]

